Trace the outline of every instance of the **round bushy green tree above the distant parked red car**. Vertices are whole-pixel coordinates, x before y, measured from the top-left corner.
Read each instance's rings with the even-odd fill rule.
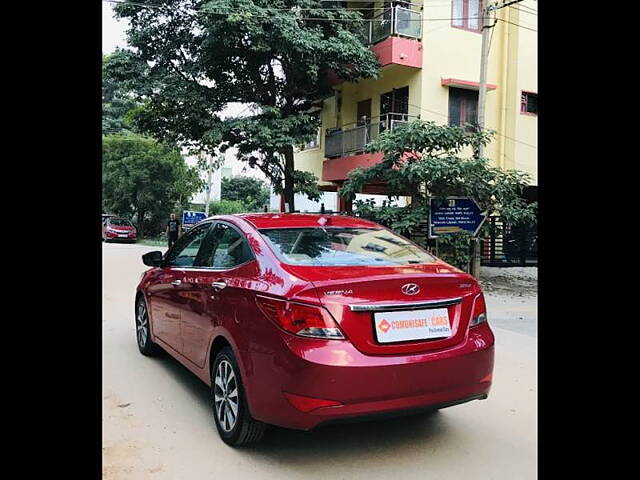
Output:
[[[141,236],[160,233],[169,213],[202,187],[177,150],[138,135],[102,137],[103,209],[135,217]]]

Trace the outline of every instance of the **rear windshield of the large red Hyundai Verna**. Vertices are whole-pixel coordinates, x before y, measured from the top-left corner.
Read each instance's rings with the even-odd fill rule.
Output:
[[[293,265],[407,265],[434,257],[408,240],[374,228],[270,228],[260,230],[276,255]]]

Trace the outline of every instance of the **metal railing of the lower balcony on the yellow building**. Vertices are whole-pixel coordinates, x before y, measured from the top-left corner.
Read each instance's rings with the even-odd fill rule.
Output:
[[[340,130],[327,132],[324,143],[324,156],[327,158],[355,155],[364,151],[364,146],[385,130],[393,130],[398,125],[417,118],[406,113],[387,113],[380,117],[368,119],[368,123],[349,127],[345,125]]]

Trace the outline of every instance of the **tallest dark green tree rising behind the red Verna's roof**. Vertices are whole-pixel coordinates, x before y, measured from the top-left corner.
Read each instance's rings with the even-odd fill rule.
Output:
[[[355,81],[379,64],[361,40],[362,15],[320,0],[153,0],[114,7],[128,43],[109,72],[144,100],[143,131],[181,145],[238,147],[293,210],[294,193],[318,199],[317,178],[295,169],[294,146],[315,137],[309,112],[333,95],[328,73]],[[254,115],[222,120],[228,102]]]

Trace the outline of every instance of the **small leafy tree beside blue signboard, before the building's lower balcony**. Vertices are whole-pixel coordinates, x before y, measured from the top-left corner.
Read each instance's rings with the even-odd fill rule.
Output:
[[[357,202],[360,213],[404,234],[411,234],[428,218],[431,197],[472,197],[488,215],[500,215],[507,223],[533,222],[535,203],[522,196],[530,177],[518,170],[492,167],[487,158],[465,157],[465,150],[477,151],[493,132],[476,132],[457,126],[414,120],[384,132],[367,145],[368,152],[382,152],[380,163],[349,174],[341,193],[353,198],[365,184],[385,183],[390,197],[411,196],[406,207],[373,209]],[[466,269],[470,259],[470,237],[453,234],[438,239],[439,255]],[[440,248],[442,247],[442,248]]]

